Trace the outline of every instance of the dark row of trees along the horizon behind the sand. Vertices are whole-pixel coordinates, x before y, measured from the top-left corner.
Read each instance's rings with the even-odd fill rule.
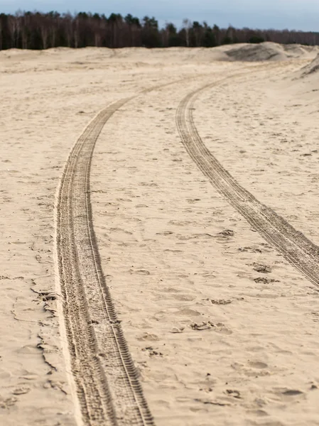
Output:
[[[141,47],[168,48],[215,47],[230,43],[275,43],[303,45],[319,44],[319,33],[289,30],[253,30],[250,28],[220,28],[206,22],[184,19],[182,28],[166,23],[159,28],[156,18],[143,19],[128,14],[121,16],[80,12],[76,14],[17,12],[0,13],[0,50],[10,48],[48,49],[56,47],[105,48]]]

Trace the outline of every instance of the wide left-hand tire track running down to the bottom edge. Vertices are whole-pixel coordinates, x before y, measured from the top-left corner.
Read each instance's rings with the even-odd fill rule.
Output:
[[[70,153],[57,201],[56,249],[70,364],[85,426],[153,425],[102,273],[90,205],[94,145],[110,116],[100,112]]]

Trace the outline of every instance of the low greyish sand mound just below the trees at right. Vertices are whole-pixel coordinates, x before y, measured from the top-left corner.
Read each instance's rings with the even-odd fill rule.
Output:
[[[234,47],[235,46],[235,47]],[[264,60],[288,60],[290,58],[313,58],[318,53],[318,46],[280,45],[265,42],[260,44],[241,43],[223,46],[222,49],[231,60],[260,62]]]

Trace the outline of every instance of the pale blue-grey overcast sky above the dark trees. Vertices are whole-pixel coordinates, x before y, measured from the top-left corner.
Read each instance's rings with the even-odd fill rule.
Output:
[[[319,0],[0,0],[0,13],[16,10],[91,11],[155,16],[180,26],[183,18],[237,28],[319,31]]]

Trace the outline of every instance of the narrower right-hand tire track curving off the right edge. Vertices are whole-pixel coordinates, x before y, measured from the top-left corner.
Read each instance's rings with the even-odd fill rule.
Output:
[[[183,145],[210,183],[247,222],[311,283],[319,285],[319,247],[239,185],[210,153],[198,134],[193,120],[196,99],[203,90],[222,84],[225,80],[229,80],[229,77],[213,84],[206,84],[188,94],[180,102],[176,112],[176,125]]]

